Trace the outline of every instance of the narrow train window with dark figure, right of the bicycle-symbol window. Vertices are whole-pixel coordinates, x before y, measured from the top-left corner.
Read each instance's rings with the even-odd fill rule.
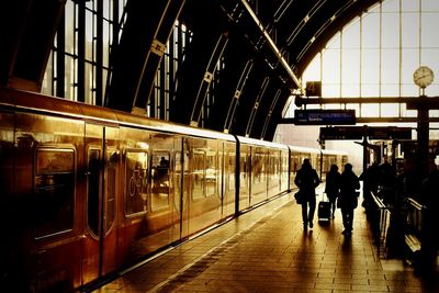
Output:
[[[151,210],[169,207],[169,151],[153,151]]]

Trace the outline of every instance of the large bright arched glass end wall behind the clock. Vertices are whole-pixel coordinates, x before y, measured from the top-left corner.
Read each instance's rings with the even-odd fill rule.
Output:
[[[436,74],[425,89],[439,95],[439,1],[386,0],[339,31],[304,71],[302,81],[320,80],[324,98],[418,97],[413,74],[428,66]],[[345,109],[345,104],[325,105]],[[348,104],[358,117],[416,116],[404,103]],[[291,106],[286,116],[293,116]],[[438,117],[439,111],[430,111]]]

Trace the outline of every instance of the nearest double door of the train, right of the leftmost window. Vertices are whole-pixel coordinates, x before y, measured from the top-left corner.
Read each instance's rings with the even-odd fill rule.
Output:
[[[82,280],[88,283],[117,267],[116,192],[119,129],[86,125],[86,227]]]

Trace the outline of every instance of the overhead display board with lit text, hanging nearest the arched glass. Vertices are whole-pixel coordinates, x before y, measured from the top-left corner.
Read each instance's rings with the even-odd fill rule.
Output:
[[[294,110],[295,125],[354,125],[354,110]]]

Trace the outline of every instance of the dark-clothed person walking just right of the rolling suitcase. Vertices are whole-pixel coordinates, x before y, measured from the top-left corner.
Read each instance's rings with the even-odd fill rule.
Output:
[[[352,171],[352,165],[345,165],[345,170],[340,176],[340,195],[338,198],[338,206],[341,209],[344,232],[346,236],[352,234],[353,210],[358,205],[357,190],[360,189],[360,181]]]

